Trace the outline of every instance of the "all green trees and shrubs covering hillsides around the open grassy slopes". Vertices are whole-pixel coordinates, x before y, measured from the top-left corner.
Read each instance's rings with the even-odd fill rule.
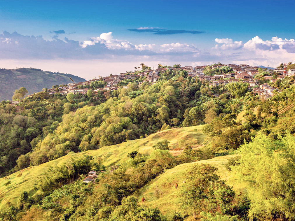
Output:
[[[218,70],[221,71],[221,70]],[[230,68],[222,71],[230,72]],[[262,73],[262,72],[261,72]],[[263,73],[258,76],[263,79]],[[294,79],[277,83],[278,92],[260,100],[246,83],[209,86],[186,71],[160,75],[157,83],[134,81],[112,92],[48,95],[40,92],[19,105],[2,102],[1,176],[29,166],[170,128],[204,125],[199,149],[178,142],[172,155],[161,140],[150,155],[128,154],[124,164],[103,165],[92,156],[71,158],[44,171],[38,192],[23,191],[17,205],[2,210],[2,220],[294,220],[295,114]],[[97,85],[89,86],[94,89]],[[279,91],[280,90],[280,91]],[[218,94],[219,96],[216,96]],[[286,109],[286,110],[287,110]],[[226,165],[236,192],[216,166],[197,164],[231,156]],[[192,164],[189,164],[192,163]],[[181,184],[179,210],[163,214],[146,206],[136,193],[169,169],[189,164]],[[94,183],[81,177],[100,171]],[[5,178],[3,178],[5,179]],[[9,180],[7,181],[9,185]],[[175,187],[177,189],[178,186]],[[161,189],[155,196],[163,197]],[[141,201],[141,202],[139,202]],[[167,208],[169,210],[169,208]]]

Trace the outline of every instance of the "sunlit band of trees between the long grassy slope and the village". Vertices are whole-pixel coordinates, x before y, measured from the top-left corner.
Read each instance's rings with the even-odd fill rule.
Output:
[[[220,98],[210,96],[225,92],[224,87],[209,88],[187,77],[185,71],[171,74],[170,78],[144,88],[129,83],[128,89],[113,91],[100,105],[84,106],[65,114],[56,130],[26,155],[27,164],[38,165],[69,151],[119,144],[171,127],[200,125],[206,114],[210,118],[212,111],[218,116],[242,108],[242,99],[229,99],[227,94]],[[69,95],[67,98],[71,100]]]

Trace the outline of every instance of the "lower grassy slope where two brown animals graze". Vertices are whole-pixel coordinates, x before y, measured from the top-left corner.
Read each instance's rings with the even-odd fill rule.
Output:
[[[220,176],[220,178],[226,180],[228,185],[233,186],[235,192],[242,192],[243,187],[240,184],[235,183],[234,179],[231,179],[233,174],[224,168],[224,164],[227,162],[227,160],[234,156],[237,155],[219,156],[209,160],[180,164],[165,171],[165,173],[161,174],[149,184],[145,185],[145,187],[135,192],[134,195],[139,199],[142,197],[145,198],[146,201],[144,203],[140,202],[140,204],[144,204],[147,207],[158,208],[165,215],[171,215],[174,212],[181,211],[181,200],[179,193],[183,185],[183,181],[186,180],[184,172],[191,165],[201,163],[208,163],[212,166],[216,166],[218,168],[217,174]],[[178,189],[175,188],[176,183],[178,184]],[[156,189],[161,191],[162,197],[155,194]]]

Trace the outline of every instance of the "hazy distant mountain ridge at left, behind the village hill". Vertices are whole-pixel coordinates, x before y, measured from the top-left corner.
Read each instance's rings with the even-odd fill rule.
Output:
[[[0,69],[0,101],[11,100],[14,90],[25,87],[29,94],[53,85],[86,81],[84,78],[59,72],[43,71],[37,68]]]

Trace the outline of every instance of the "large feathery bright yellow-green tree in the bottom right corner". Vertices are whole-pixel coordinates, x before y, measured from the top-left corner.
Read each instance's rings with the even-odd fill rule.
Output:
[[[295,219],[295,138],[262,133],[239,149],[240,164],[232,167],[250,199],[254,220]]]

